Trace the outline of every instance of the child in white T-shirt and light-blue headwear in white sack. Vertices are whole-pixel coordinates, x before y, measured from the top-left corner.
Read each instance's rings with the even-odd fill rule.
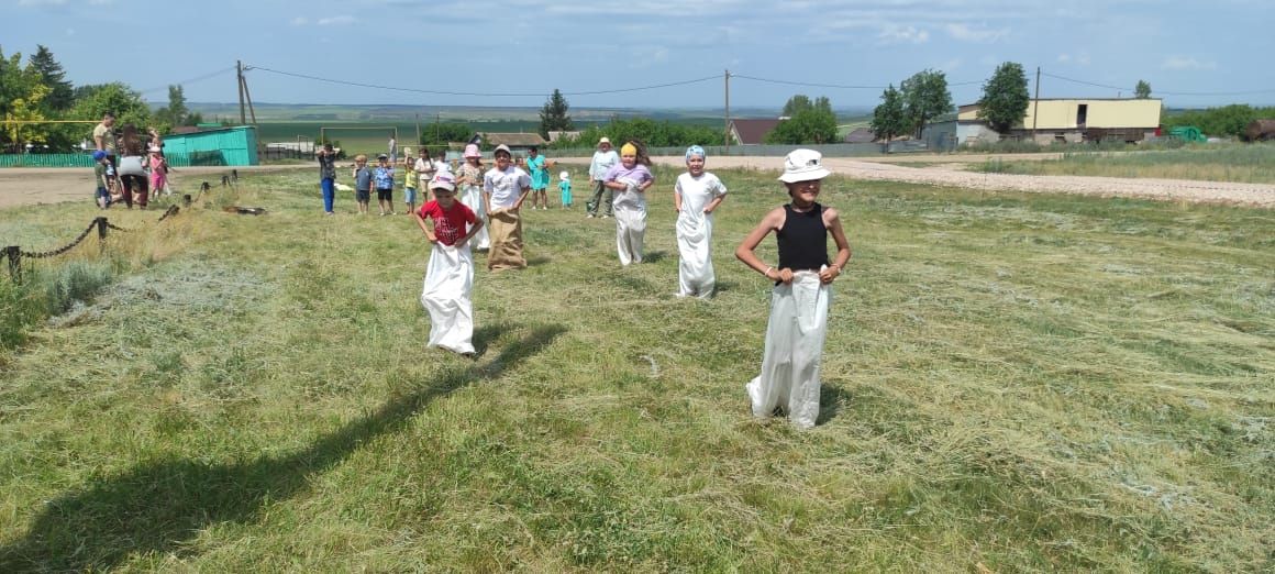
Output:
[[[677,209],[677,296],[709,298],[717,283],[713,273],[713,212],[725,199],[725,185],[704,171],[704,148],[686,148],[686,173],[673,185]]]

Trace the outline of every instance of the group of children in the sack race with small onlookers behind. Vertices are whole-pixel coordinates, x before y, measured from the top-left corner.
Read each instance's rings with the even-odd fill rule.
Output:
[[[427,152],[426,152],[427,154]],[[470,244],[479,233],[487,235],[487,267],[491,270],[527,267],[521,255],[521,218],[519,210],[532,194],[533,177],[513,165],[507,147],[496,148],[496,166],[483,172],[477,147],[465,149],[465,163],[453,175],[450,168],[435,167],[427,184],[427,200],[411,213],[426,239],[433,244],[427,264],[421,305],[430,315],[427,346],[473,357],[473,254]],[[673,186],[677,209],[678,296],[711,297],[715,276],[711,261],[713,213],[720,207],[727,188],[715,175],[704,170],[704,148],[686,149],[686,172]],[[366,171],[366,158],[356,159],[356,179]],[[615,193],[616,249],[622,265],[641,263],[646,228],[645,193],[654,185],[650,158],[638,142],[620,149],[620,163],[602,177]],[[385,176],[389,171],[389,177]],[[423,173],[421,162],[408,170]],[[479,180],[481,175],[481,180]],[[761,374],[745,390],[752,415],[759,418],[787,415],[802,429],[815,425],[820,403],[820,362],[826,334],[827,310],[831,302],[830,283],[841,274],[850,259],[850,247],[835,209],[816,202],[821,181],[830,172],[822,166],[819,152],[797,149],[784,158],[784,184],[789,203],[766,213],[748,232],[736,256],[754,270],[774,282],[768,321]],[[358,179],[360,189],[375,182],[377,199],[385,213],[391,189],[393,171],[386,158],[380,158],[376,172]],[[569,205],[569,177],[561,177],[564,204]],[[479,189],[481,196],[470,198]],[[367,188],[362,188],[366,184]],[[409,188],[411,189],[411,188]],[[460,191],[458,191],[460,190]],[[464,199],[458,198],[459,194]],[[366,203],[368,194],[360,195]],[[407,198],[414,200],[414,190]],[[393,213],[393,212],[390,212]],[[768,265],[755,250],[771,232],[778,239],[779,260]],[[833,239],[836,254],[829,258],[827,240]],[[479,246],[481,249],[481,246]]]

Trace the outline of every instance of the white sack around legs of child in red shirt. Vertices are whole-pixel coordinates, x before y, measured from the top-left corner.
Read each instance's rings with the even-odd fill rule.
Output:
[[[474,261],[469,244],[450,247],[436,244],[425,272],[421,305],[430,313],[430,347],[458,353],[474,352],[473,291]]]

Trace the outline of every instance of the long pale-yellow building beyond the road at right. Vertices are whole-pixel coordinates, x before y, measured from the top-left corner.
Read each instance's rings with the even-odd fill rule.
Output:
[[[979,106],[960,106],[959,122],[982,121]],[[1009,136],[1031,138],[1039,143],[1123,140],[1139,142],[1155,135],[1160,126],[1160,99],[1058,98],[1028,102],[1023,122]]]

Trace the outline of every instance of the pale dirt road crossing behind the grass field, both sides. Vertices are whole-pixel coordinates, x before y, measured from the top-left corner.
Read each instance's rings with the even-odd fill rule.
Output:
[[[1012,158],[1048,159],[1057,154],[1014,154]],[[1048,191],[1098,196],[1144,198],[1191,203],[1221,203],[1275,208],[1275,185],[1229,184],[1195,180],[1150,180],[1125,177],[1081,176],[1026,176],[1007,173],[978,173],[961,171],[956,163],[978,163],[992,156],[909,156],[908,161],[926,162],[926,167],[907,167],[899,157],[886,158],[825,158],[833,172],[858,180],[903,181],[919,185],[942,185],[989,191]],[[558,158],[561,163],[584,165],[586,158]],[[658,163],[683,166],[681,157],[657,157]],[[778,171],[783,158],[778,157],[714,157],[711,168],[745,167]],[[254,166],[240,167],[240,172],[273,170],[314,170],[314,166]],[[217,184],[227,167],[186,167],[173,175],[178,189],[196,189],[200,181]],[[92,170],[74,168],[8,168],[0,170],[0,208],[34,203],[91,200],[93,194]]]

